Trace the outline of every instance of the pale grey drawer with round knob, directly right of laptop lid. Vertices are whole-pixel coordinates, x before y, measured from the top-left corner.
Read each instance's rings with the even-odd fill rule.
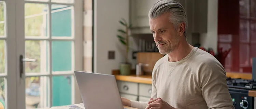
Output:
[[[138,83],[117,81],[119,92],[138,95]]]

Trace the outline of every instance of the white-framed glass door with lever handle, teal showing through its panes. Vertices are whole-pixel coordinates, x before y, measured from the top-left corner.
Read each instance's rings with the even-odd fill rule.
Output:
[[[82,0],[16,0],[18,107],[74,104],[73,74],[82,70],[82,4]]]

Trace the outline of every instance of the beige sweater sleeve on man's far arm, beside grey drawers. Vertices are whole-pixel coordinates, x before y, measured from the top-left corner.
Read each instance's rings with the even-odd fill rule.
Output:
[[[151,98],[157,98],[157,93],[156,93],[156,82],[155,82],[155,73],[152,74],[152,92],[151,92]],[[149,101],[150,99],[148,99]],[[147,106],[148,102],[138,102],[131,100],[131,107],[138,108],[138,109],[145,109]]]

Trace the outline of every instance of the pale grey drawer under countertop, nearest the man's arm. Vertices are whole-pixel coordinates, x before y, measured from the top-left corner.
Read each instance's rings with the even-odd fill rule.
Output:
[[[145,97],[151,97],[152,85],[151,84],[139,84],[139,95]]]

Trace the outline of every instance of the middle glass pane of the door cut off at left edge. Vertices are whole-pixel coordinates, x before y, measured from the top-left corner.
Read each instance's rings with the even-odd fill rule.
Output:
[[[0,40],[0,73],[5,73],[5,41]]]

